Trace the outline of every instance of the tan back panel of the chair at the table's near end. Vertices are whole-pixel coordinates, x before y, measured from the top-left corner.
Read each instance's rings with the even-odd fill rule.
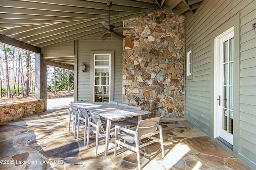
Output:
[[[159,123],[160,117],[154,117],[151,119],[145,119],[138,121],[138,126],[136,131],[138,132],[138,136],[146,135],[148,133],[155,132],[158,123]]]

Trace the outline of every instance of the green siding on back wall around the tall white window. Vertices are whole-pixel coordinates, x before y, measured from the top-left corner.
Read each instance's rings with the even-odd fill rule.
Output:
[[[104,39],[89,37],[78,40],[78,100],[87,99],[92,101],[90,96],[92,84],[90,84],[90,52],[114,50],[114,101],[122,102],[122,39],[115,35]],[[79,66],[85,62],[86,72],[82,72]]]

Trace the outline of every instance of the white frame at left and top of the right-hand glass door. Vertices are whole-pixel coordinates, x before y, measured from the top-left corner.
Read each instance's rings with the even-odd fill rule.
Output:
[[[234,26],[214,38],[214,138],[219,137],[219,65],[220,65],[220,39],[234,31]]]

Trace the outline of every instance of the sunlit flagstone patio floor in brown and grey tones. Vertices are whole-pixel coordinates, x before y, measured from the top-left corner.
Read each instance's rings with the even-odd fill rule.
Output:
[[[251,170],[198,128],[183,118],[162,118],[164,153],[154,143],[141,150],[143,170]],[[95,156],[94,140],[83,145],[68,135],[68,106],[56,107],[19,121],[0,125],[0,169],[10,170],[136,170],[136,154],[100,143]]]

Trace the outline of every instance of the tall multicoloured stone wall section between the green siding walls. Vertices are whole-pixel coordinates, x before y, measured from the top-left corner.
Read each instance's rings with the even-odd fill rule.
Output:
[[[124,21],[123,102],[184,117],[185,17],[160,11]]]

